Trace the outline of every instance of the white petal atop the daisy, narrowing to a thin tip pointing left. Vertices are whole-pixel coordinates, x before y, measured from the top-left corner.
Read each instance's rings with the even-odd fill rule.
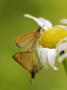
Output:
[[[52,28],[51,22],[46,20],[46,19],[36,18],[36,17],[29,15],[29,14],[24,14],[24,16],[34,20],[44,30],[48,30],[49,28]]]

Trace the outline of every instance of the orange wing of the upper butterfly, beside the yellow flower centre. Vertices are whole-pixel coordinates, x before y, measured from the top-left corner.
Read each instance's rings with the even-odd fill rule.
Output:
[[[22,48],[23,51],[28,51],[33,46],[35,46],[37,30],[27,33],[15,40],[15,43],[18,47]]]

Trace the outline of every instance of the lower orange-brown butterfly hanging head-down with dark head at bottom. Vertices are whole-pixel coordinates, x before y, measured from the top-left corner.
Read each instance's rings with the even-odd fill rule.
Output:
[[[35,52],[20,52],[16,53],[13,58],[28,72],[30,72],[32,78],[40,70],[40,62]]]

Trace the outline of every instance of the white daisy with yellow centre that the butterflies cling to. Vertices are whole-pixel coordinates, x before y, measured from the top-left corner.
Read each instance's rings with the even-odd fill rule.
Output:
[[[57,70],[55,62],[62,62],[67,57],[67,38],[65,38],[67,37],[67,26],[56,25],[53,27],[52,23],[44,18],[36,18],[29,14],[24,16],[34,20],[43,29],[36,45],[41,64],[45,68],[50,66],[53,70]],[[66,23],[64,20],[61,22]]]

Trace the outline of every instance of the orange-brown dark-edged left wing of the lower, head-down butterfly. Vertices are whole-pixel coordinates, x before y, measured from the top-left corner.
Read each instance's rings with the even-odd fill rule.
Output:
[[[16,53],[13,58],[26,70],[32,71],[32,53],[31,52],[20,52]]]

